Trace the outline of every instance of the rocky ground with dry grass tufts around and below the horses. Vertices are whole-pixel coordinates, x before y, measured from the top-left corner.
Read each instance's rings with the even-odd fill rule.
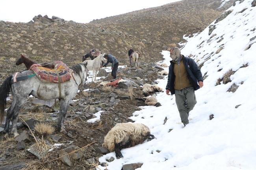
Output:
[[[34,132],[33,128],[38,121],[56,126],[59,106],[58,101],[55,105],[54,102],[49,102],[49,106],[46,106],[30,97],[19,113],[20,135],[16,138],[0,135],[0,170],[13,170],[14,167],[23,167],[24,170],[95,168],[98,157],[108,152],[101,147],[106,133],[117,123],[130,122],[129,117],[132,113],[140,110],[138,106],[145,106],[145,102],[139,100],[144,97],[141,86],[145,83],[156,84],[155,80],[162,78],[159,74],[161,70],[162,68],[156,64],[145,63],[141,64],[139,69],[121,68],[117,77],[122,77],[127,82],[119,83],[118,88],[113,88],[99,85],[101,81],[112,79],[111,75],[102,69],[98,75],[101,80],[88,82],[85,87],[81,87],[80,92],[70,103],[65,118],[66,134],[56,130],[52,135],[42,138]],[[11,101],[8,101],[7,107],[10,104]],[[87,122],[98,113],[101,113],[100,119]],[[27,126],[32,129],[35,138]],[[41,149],[37,148],[35,139]],[[47,152],[50,148],[53,149]],[[78,151],[70,156],[63,156],[75,150]],[[106,160],[106,163],[113,161],[112,159]]]

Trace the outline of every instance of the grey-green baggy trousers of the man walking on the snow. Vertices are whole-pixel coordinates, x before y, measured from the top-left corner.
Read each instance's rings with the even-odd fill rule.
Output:
[[[195,96],[195,90],[193,87],[184,88],[182,90],[175,90],[175,98],[177,108],[180,112],[181,122],[184,124],[189,123],[188,115],[191,110],[193,110],[195,104],[197,104],[197,99]]]

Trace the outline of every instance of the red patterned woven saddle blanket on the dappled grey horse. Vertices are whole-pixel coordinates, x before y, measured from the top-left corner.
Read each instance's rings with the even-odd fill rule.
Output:
[[[33,64],[30,67],[30,70],[34,71],[37,77],[43,82],[49,83],[59,83],[58,74],[60,77],[60,82],[69,81],[71,78],[70,69],[64,64],[62,61],[55,61],[53,62],[54,69],[42,67],[40,64]]]

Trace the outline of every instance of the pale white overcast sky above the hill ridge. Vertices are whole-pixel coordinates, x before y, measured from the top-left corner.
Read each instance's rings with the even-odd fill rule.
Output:
[[[41,14],[87,23],[176,1],[179,0],[0,0],[0,20],[29,22]]]

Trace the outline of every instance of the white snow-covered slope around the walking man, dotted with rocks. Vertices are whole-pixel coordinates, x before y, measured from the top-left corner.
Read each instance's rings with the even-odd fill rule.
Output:
[[[256,7],[251,3],[237,1],[226,18],[212,23],[210,35],[206,28],[182,49],[202,66],[205,79],[204,87],[195,92],[190,123],[183,128],[174,95],[159,93],[162,106],[142,107],[131,117],[150,127],[157,139],[121,150],[124,158],[108,163],[108,170],[121,170],[129,163],[143,163],[137,170],[256,169]],[[169,52],[163,55],[169,64]],[[166,78],[159,80],[162,88]],[[214,118],[209,120],[211,114]],[[111,156],[114,152],[99,161]]]

